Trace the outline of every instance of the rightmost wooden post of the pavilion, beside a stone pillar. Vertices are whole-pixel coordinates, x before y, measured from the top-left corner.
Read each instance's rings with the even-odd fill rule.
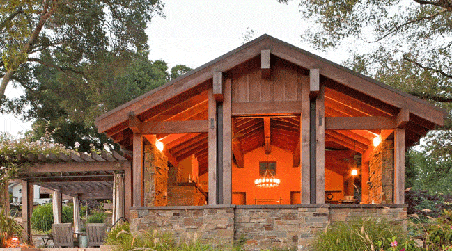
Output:
[[[405,203],[405,129],[394,130],[394,204]]]

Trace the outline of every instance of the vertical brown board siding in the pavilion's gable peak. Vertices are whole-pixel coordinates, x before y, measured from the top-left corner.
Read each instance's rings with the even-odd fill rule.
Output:
[[[269,79],[262,78],[260,58],[254,58],[231,71],[233,103],[301,101],[300,84],[309,84],[306,70],[281,58],[272,57],[272,61],[274,64]]]

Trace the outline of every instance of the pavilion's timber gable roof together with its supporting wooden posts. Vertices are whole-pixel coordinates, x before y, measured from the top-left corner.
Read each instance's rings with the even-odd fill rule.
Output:
[[[442,125],[444,115],[428,102],[263,35],[109,111],[96,125],[133,152],[135,207],[143,206],[143,143],[163,143],[176,167],[194,155],[199,173],[208,172],[210,205],[231,204],[232,168],[244,167],[245,154],[278,147],[300,168],[299,202],[323,204],[325,169],[348,172],[337,168],[347,163],[335,150],[362,156],[368,194],[376,136],[394,142],[393,203],[403,204],[405,149]]]

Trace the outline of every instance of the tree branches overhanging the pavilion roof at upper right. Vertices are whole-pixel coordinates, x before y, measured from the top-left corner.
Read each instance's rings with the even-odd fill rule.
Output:
[[[449,108],[452,1],[301,0],[299,8],[312,24],[302,40],[315,49],[347,47],[348,67]]]

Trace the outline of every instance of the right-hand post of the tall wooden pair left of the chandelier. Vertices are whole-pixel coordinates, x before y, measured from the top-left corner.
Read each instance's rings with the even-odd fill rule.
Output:
[[[223,101],[223,204],[231,204],[231,79],[224,81]]]

